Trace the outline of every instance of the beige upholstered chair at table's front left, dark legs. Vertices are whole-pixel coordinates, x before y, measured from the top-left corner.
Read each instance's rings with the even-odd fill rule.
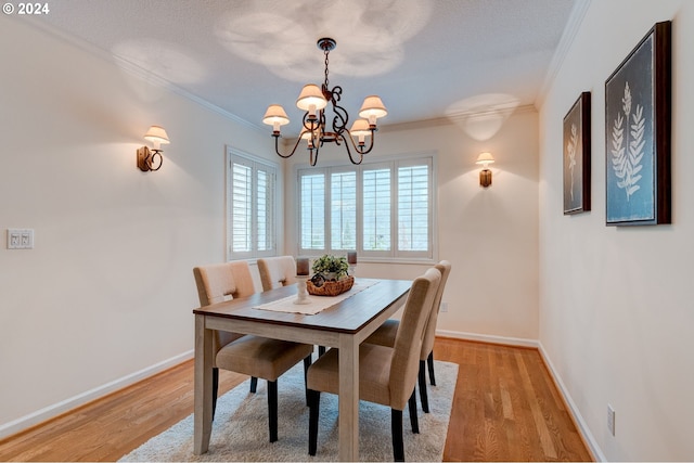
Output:
[[[255,293],[250,269],[245,260],[195,267],[193,274],[203,307]],[[215,331],[213,348],[213,417],[220,368],[252,376],[253,393],[255,380],[261,377],[268,382],[270,441],[278,440],[278,377],[300,360],[308,369],[313,346]]]

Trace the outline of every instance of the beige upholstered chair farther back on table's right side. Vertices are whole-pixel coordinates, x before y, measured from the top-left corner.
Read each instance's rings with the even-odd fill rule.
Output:
[[[432,310],[432,314],[429,316],[429,321],[424,334],[424,342],[422,343],[422,352],[420,355],[420,399],[422,401],[422,410],[425,413],[429,412],[429,401],[426,394],[426,366],[428,364],[429,382],[432,383],[432,386],[436,386],[436,376],[434,374],[434,339],[436,338],[438,311],[441,305],[444,290],[446,288],[446,282],[448,281],[449,273],[451,272],[451,263],[448,260],[441,260],[436,265],[436,268],[441,272],[441,284],[436,293],[434,310]],[[369,336],[364,343],[377,344],[380,346],[393,346],[395,344],[396,333],[398,332],[398,325],[399,322],[397,320],[386,320],[386,322],[371,336]]]

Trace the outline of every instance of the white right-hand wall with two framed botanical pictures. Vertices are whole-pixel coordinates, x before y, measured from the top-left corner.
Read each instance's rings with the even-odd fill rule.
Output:
[[[604,83],[672,20],[672,224],[605,227]],[[592,1],[540,113],[540,342],[602,458],[693,460],[694,2]],[[562,215],[562,119],[592,92],[592,211]],[[607,404],[616,435],[607,430]]]

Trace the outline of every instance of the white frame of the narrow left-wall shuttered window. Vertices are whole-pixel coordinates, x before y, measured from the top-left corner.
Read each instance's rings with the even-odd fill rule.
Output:
[[[269,170],[273,177],[274,177],[274,183],[272,185],[272,192],[271,192],[271,196],[272,196],[272,211],[271,211],[271,221],[272,223],[269,226],[271,229],[271,244],[270,244],[270,248],[266,249],[266,250],[258,250],[258,223],[257,223],[257,218],[255,216],[255,214],[252,215],[252,244],[250,244],[250,250],[248,252],[234,252],[233,250],[233,214],[232,214],[232,207],[233,207],[233,165],[234,164],[241,164],[241,165],[245,165],[248,166],[249,168],[252,168],[254,175],[253,175],[253,182],[256,181],[257,177],[256,177],[256,172],[259,168],[264,168]],[[279,185],[280,183],[280,179],[279,179],[279,175],[280,175],[280,167],[272,163],[269,162],[267,159],[262,159],[258,156],[255,156],[253,154],[248,154],[245,153],[241,150],[234,149],[232,146],[227,146],[227,155],[226,155],[226,167],[227,167],[227,195],[226,195],[226,205],[224,205],[224,213],[227,216],[227,260],[239,260],[239,259],[256,259],[258,257],[272,257],[272,256],[277,256],[278,255],[278,232],[279,232],[279,228],[280,228],[280,223],[278,223],[278,217],[279,217],[279,211],[278,208],[280,206],[280,192],[279,192]],[[257,195],[256,195],[256,189],[255,189],[255,184],[254,188],[252,188],[252,208],[255,211],[256,207],[257,207]]]

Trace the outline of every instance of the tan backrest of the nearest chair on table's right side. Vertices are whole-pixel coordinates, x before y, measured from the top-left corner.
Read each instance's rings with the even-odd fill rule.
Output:
[[[434,268],[412,282],[398,326],[390,363],[390,407],[402,410],[414,390],[420,351],[441,273]]]

